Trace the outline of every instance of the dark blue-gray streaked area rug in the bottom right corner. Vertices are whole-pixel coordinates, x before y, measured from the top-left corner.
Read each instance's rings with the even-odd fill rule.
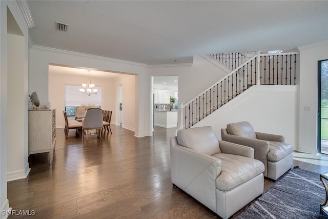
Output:
[[[235,218],[324,218],[324,197],[320,174],[295,167]]]

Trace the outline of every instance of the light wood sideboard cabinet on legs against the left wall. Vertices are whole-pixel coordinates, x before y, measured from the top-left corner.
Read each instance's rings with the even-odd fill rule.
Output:
[[[29,155],[49,152],[49,164],[56,144],[55,118],[55,109],[31,109],[28,112]]]

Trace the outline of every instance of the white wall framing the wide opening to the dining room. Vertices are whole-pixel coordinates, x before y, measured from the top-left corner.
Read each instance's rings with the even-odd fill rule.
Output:
[[[37,91],[40,99],[40,107],[45,107],[48,102],[52,102],[49,99],[49,64],[135,74],[135,91],[133,92],[135,99],[135,119],[130,120],[135,121],[135,127],[131,128],[135,130],[135,136],[137,137],[151,134],[149,118],[150,105],[148,106],[150,103],[150,77],[146,72],[146,65],[83,53],[33,46],[29,50],[29,93]],[[139,80],[140,78],[141,80]],[[139,121],[141,122],[139,123]]]

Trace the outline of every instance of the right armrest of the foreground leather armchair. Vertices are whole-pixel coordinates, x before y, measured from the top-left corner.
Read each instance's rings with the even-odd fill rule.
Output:
[[[231,142],[219,141],[222,153],[235,154],[254,158],[254,149],[244,145],[238,145]]]

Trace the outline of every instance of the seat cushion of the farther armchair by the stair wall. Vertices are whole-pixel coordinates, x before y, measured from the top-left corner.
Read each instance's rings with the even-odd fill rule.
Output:
[[[293,153],[294,147],[283,142],[270,142],[270,151],[267,154],[268,161],[277,162]]]

